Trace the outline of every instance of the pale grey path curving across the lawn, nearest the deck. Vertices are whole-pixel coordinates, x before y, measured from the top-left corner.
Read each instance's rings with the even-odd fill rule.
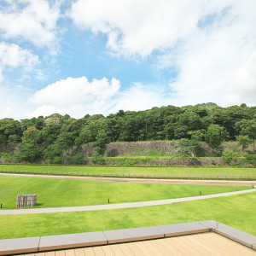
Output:
[[[227,193],[221,193],[221,194],[215,194],[215,195],[200,195],[200,196],[166,199],[166,200],[158,200],[158,201],[138,201],[138,202],[130,202],[130,203],[84,206],[84,207],[51,207],[51,208],[37,208],[37,209],[34,208],[34,209],[19,209],[19,210],[1,210],[0,215],[51,213],[51,212],[84,212],[84,211],[132,208],[132,207],[151,207],[151,206],[174,204],[174,203],[179,203],[183,201],[195,201],[195,200],[222,197],[227,195],[241,195],[241,194],[253,193],[253,192],[256,192],[256,189],[247,189],[247,190],[227,192]]]

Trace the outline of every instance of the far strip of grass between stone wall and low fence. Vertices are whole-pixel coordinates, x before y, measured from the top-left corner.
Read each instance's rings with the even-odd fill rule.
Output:
[[[235,176],[235,177],[256,177],[256,167],[246,168],[246,167],[115,167],[115,166],[32,166],[32,165],[0,165],[1,170],[11,170],[20,172],[59,172],[62,173],[81,173],[81,174],[119,174],[119,175],[137,175],[137,176]]]

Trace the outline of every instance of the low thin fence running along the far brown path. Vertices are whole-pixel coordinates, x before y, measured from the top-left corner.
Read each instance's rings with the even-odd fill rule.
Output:
[[[0,173],[20,173],[53,176],[78,176],[78,177],[124,177],[124,178],[148,178],[148,179],[196,179],[196,180],[256,180],[255,176],[207,176],[207,175],[143,175],[143,174],[114,174],[114,173],[85,173],[85,172],[38,172],[1,170]]]

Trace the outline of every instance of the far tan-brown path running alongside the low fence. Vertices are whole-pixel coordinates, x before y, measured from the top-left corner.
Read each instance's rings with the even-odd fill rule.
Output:
[[[45,178],[63,178],[63,179],[82,179],[96,180],[106,182],[123,183],[161,183],[161,184],[187,184],[187,185],[216,185],[216,186],[255,186],[256,181],[236,181],[236,180],[193,180],[193,179],[152,179],[152,178],[123,178],[123,177],[79,177],[79,176],[61,176],[61,175],[37,175],[37,174],[13,174],[0,173],[0,176],[17,177],[45,177]]]

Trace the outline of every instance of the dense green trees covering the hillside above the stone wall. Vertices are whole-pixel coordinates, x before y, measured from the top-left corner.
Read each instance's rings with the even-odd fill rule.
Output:
[[[86,109],[84,109],[86,113]],[[223,142],[236,141],[242,151],[255,154],[256,107],[219,107],[215,103],[166,106],[145,111],[84,115],[51,114],[32,119],[0,119],[0,157],[8,162],[83,164],[81,148],[96,147],[104,155],[112,142],[177,140],[181,154],[196,155],[201,142],[222,154]],[[253,150],[248,151],[249,145]]]

